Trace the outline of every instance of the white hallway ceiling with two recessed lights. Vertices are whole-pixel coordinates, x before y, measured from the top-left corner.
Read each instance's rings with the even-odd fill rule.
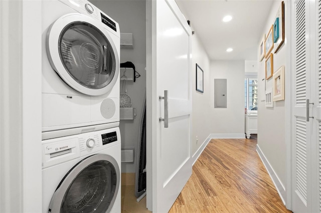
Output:
[[[212,60],[256,60],[274,0],[176,0]],[[233,19],[223,22],[225,15]],[[227,48],[233,48],[227,52]]]

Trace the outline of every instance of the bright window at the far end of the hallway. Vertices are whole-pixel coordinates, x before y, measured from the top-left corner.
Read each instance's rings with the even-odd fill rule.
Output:
[[[251,110],[257,107],[257,78],[245,78],[245,108]]]

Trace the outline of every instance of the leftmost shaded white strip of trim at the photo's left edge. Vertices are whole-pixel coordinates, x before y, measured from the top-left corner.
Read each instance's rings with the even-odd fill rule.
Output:
[[[22,1],[0,1],[0,212],[24,212],[20,45],[23,36],[22,4]],[[15,27],[10,27],[13,24]]]

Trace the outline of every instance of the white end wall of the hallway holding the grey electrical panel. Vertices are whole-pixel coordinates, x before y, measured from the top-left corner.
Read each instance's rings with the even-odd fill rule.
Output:
[[[211,61],[211,110],[205,111],[211,119],[211,133],[218,137],[245,138],[244,116],[244,60]],[[214,108],[214,78],[227,79],[227,108]]]

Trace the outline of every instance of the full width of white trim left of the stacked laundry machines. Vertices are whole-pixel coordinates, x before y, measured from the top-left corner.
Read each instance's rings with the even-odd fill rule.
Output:
[[[31,10],[41,1],[0,3],[1,212],[42,209],[41,12]]]

